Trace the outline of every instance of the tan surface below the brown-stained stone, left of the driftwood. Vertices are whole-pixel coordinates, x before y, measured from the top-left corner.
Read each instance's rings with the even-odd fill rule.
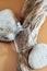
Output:
[[[0,43],[0,71],[16,71],[17,54],[13,43]]]

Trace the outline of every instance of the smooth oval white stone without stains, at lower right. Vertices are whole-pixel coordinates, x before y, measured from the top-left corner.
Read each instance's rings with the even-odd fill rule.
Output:
[[[37,44],[28,56],[28,63],[33,69],[40,69],[47,66],[47,45]]]

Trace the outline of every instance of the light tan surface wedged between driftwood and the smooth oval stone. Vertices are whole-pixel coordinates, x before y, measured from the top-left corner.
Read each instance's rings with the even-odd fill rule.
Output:
[[[37,42],[47,44],[47,17],[44,25],[39,29]]]

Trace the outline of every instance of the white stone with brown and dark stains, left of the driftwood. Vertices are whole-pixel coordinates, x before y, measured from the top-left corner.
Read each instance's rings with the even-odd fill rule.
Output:
[[[0,11],[0,40],[14,40],[16,23],[16,19],[11,10]]]

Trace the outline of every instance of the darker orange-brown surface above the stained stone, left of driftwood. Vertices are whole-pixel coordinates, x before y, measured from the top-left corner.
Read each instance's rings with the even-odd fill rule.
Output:
[[[12,9],[20,20],[21,10],[23,7],[24,0],[0,0],[0,10]]]

